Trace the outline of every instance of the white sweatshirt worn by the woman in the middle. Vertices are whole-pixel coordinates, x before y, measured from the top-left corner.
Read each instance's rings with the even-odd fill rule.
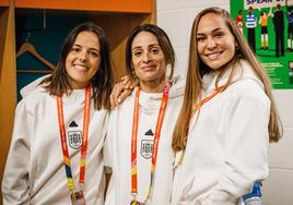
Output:
[[[171,200],[172,167],[174,153],[172,134],[180,110],[184,82],[172,86],[161,130],[157,159],[154,173],[152,205],[167,205]],[[157,121],[162,93],[140,93],[139,125],[137,144],[138,195],[144,202],[149,191],[152,147]],[[113,176],[106,196],[107,205],[130,204],[131,197],[131,131],[136,91],[126,101],[110,113],[109,129],[106,137],[106,159],[113,167]],[[105,159],[105,160],[106,160]]]

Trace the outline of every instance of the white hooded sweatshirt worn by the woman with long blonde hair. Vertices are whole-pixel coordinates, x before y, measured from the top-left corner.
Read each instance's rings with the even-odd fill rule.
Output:
[[[241,64],[234,83],[191,120],[184,161],[175,171],[173,205],[236,205],[254,181],[268,176],[270,100],[250,65]],[[214,91],[215,76],[203,77],[203,97]],[[219,86],[227,76],[228,71]]]

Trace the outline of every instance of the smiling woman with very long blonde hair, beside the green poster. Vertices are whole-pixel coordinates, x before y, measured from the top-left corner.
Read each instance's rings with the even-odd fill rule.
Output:
[[[194,21],[183,107],[173,133],[173,205],[234,205],[268,177],[282,129],[271,85],[227,11]]]

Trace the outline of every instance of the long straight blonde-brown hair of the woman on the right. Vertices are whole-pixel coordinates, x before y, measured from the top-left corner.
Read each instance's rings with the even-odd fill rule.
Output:
[[[186,88],[185,88],[185,96],[183,107],[175,125],[173,132],[173,149],[175,152],[181,150],[185,148],[187,143],[187,131],[189,125],[189,117],[191,116],[191,108],[192,104],[197,102],[201,99],[201,89],[202,89],[202,76],[210,72],[210,68],[208,68],[199,58],[198,56],[198,44],[197,44],[197,29],[200,19],[208,14],[214,13],[219,16],[222,16],[225,21],[226,26],[228,27],[230,32],[235,38],[235,58],[228,62],[226,68],[232,68],[231,74],[228,76],[227,83],[225,88],[231,84],[232,79],[235,74],[235,68],[233,64],[237,63],[239,59],[245,59],[251,65],[253,70],[257,74],[257,77],[262,82],[265,86],[265,92],[269,99],[271,100],[271,108],[270,108],[270,120],[269,120],[269,140],[270,142],[278,142],[283,133],[282,125],[280,118],[277,112],[276,104],[273,100],[272,92],[271,92],[271,84],[270,81],[263,71],[260,62],[257,60],[255,53],[251,51],[249,46],[247,45],[244,35],[237,28],[235,22],[232,20],[230,13],[221,8],[208,8],[202,10],[195,19],[191,29],[190,36],[190,47],[189,47],[189,61],[188,61],[188,71],[187,71],[187,79],[186,79]],[[221,70],[219,77],[225,72],[225,69]],[[219,79],[218,79],[219,80]],[[216,80],[216,82],[218,82]]]

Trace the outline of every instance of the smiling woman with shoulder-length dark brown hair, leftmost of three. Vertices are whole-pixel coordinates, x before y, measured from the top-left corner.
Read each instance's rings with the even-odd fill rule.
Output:
[[[104,204],[109,59],[99,26],[84,23],[67,36],[52,74],[17,105],[3,204]]]

